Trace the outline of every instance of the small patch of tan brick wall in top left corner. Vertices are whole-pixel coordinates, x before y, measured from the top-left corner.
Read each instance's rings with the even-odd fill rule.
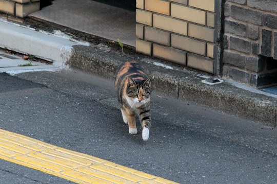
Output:
[[[39,10],[39,0],[0,0],[0,12],[26,17]]]

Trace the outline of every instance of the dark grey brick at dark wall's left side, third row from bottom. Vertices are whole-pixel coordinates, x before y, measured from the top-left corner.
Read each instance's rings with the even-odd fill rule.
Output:
[[[230,49],[250,53],[250,42],[241,38],[230,37]]]

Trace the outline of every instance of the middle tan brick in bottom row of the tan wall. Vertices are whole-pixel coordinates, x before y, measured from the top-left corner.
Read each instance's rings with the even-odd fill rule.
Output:
[[[162,45],[153,44],[153,56],[183,65],[187,64],[186,52]]]

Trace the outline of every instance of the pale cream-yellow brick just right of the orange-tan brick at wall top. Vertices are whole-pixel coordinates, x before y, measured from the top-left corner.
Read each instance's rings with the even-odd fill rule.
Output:
[[[196,10],[190,7],[171,4],[171,16],[195,22],[197,24],[206,25],[206,12]]]

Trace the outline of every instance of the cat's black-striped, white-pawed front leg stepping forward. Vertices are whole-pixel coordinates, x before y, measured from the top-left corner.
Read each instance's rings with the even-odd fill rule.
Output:
[[[149,129],[151,125],[149,109],[142,109],[139,115],[143,128],[142,137],[144,141],[147,141],[149,139]]]

